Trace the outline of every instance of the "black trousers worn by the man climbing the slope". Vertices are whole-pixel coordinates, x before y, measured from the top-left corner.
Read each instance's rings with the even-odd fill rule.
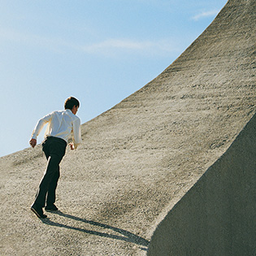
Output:
[[[42,150],[46,154],[47,167],[41,179],[34,204],[39,207],[51,205],[56,199],[56,188],[60,176],[59,163],[66,153],[67,142],[58,137],[46,137]]]

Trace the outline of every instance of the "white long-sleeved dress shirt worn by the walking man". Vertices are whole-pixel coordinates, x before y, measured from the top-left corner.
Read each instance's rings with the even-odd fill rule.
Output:
[[[40,119],[33,130],[33,139],[37,140],[41,129],[47,123],[46,137],[59,137],[67,142],[72,134],[75,149],[81,143],[80,118],[74,115],[71,110],[54,111]]]

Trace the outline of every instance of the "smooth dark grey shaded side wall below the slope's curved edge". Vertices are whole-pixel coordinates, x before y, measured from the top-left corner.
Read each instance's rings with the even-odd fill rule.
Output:
[[[256,255],[256,115],[158,225],[148,255]]]

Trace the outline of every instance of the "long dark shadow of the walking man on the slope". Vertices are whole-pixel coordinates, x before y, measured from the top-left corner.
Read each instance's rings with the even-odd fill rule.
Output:
[[[117,236],[117,235],[112,235],[112,234],[108,234],[108,233],[104,233],[104,232],[88,230],[88,229],[85,229],[85,228],[76,228],[76,227],[69,226],[67,224],[57,223],[57,222],[51,221],[50,219],[41,219],[41,221],[43,223],[46,223],[47,225],[50,225],[50,226],[77,230],[77,231],[85,232],[87,234],[94,235],[94,236],[102,236],[102,237],[107,237],[107,238],[111,238],[111,239],[116,239],[116,240],[119,240],[119,241],[127,241],[127,242],[130,242],[130,243],[137,244],[137,245],[142,245],[142,246],[145,246],[145,247],[148,247],[150,245],[150,242],[145,240],[145,238],[143,238],[141,236],[137,236],[135,234],[132,234],[131,232],[128,232],[128,231],[126,231],[124,229],[121,229],[121,228],[115,228],[115,227],[112,227],[110,225],[103,224],[103,223],[98,223],[98,222],[93,221],[93,220],[81,219],[81,218],[73,216],[73,215],[67,215],[67,214],[64,214],[63,212],[61,212],[60,210],[52,211],[51,213],[63,216],[63,217],[68,218],[68,219],[74,219],[76,221],[80,221],[80,222],[83,222],[83,223],[88,223],[88,224],[93,225],[93,226],[111,229],[115,232],[118,232],[119,234],[121,234],[123,236]],[[141,248],[141,249],[146,250],[145,248]]]

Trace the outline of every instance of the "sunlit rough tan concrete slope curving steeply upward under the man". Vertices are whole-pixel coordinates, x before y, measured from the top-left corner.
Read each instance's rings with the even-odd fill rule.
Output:
[[[254,13],[254,0],[230,0],[162,74],[83,124],[49,219],[29,210],[41,146],[0,158],[0,254],[145,255],[157,224],[254,115]]]

